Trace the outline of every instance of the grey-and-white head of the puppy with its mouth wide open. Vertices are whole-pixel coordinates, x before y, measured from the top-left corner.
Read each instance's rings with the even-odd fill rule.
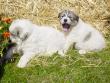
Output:
[[[64,10],[59,13],[58,18],[65,32],[76,26],[79,21],[79,17],[74,12],[69,10]]]

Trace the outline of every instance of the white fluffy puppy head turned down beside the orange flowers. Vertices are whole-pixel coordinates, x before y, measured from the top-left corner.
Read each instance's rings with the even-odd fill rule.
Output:
[[[22,42],[27,35],[32,33],[32,23],[26,19],[17,19],[9,27],[10,39],[14,43]]]

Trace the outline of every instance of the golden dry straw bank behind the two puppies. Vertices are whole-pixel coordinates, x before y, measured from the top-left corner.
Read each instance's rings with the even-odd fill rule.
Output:
[[[107,34],[110,30],[109,4],[109,0],[0,0],[0,13],[59,28],[58,13],[70,9]]]

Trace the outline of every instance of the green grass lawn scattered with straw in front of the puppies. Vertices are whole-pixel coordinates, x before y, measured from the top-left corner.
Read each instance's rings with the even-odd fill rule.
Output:
[[[66,57],[36,57],[26,68],[5,65],[1,83],[110,83],[110,42],[100,52],[81,56],[69,50]]]

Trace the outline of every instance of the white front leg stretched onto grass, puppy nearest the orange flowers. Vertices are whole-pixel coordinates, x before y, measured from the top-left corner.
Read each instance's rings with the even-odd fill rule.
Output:
[[[24,68],[26,64],[33,58],[35,57],[35,53],[32,52],[26,52],[23,54],[23,56],[20,58],[17,67],[19,68]]]

